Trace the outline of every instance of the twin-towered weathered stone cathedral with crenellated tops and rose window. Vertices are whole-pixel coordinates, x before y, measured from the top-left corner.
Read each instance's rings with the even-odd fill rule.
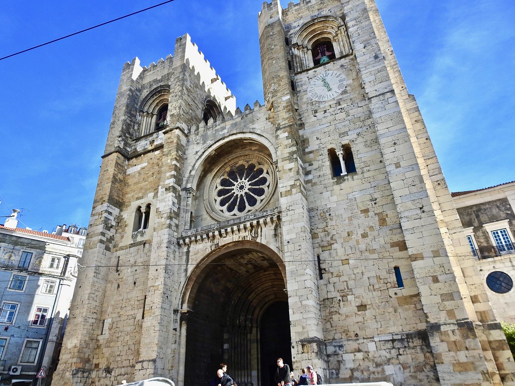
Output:
[[[123,68],[57,385],[164,376],[512,385],[417,103],[372,0],[264,3],[264,105],[187,35]]]

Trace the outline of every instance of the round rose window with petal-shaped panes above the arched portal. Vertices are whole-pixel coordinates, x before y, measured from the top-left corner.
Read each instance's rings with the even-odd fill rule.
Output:
[[[271,161],[263,154],[236,155],[222,164],[206,186],[208,212],[227,220],[259,210],[276,187]]]

